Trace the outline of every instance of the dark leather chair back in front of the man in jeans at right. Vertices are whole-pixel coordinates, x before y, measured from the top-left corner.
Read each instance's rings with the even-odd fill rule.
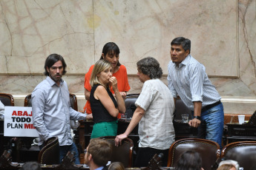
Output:
[[[180,156],[186,151],[198,152],[202,157],[202,166],[205,170],[211,170],[215,162],[220,158],[220,146],[218,143],[199,138],[186,138],[175,141],[168,152],[168,167],[177,166]]]

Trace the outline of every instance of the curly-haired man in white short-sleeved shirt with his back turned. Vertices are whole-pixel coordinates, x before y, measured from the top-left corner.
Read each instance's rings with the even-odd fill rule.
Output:
[[[139,123],[140,143],[135,166],[148,166],[154,154],[160,153],[163,153],[163,166],[167,166],[168,149],[175,140],[172,123],[174,99],[168,86],[160,81],[163,71],[155,58],[142,58],[137,62],[137,69],[143,83],[142,92],[135,102],[137,109],[125,133],[117,135],[115,143],[116,146],[121,144]]]

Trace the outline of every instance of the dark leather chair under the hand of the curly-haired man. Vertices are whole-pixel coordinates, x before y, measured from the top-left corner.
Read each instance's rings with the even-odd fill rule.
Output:
[[[115,146],[115,136],[100,137],[101,139],[107,140],[112,146],[111,162],[121,162],[125,168],[131,168],[132,166],[132,152],[134,148],[134,142],[125,138],[122,140],[122,145]]]

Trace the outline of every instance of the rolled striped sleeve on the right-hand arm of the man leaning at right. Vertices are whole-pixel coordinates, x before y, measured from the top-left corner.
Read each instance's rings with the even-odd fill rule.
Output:
[[[191,69],[189,71],[189,84],[192,101],[203,102],[204,72],[206,72],[206,69],[202,64],[191,65]]]

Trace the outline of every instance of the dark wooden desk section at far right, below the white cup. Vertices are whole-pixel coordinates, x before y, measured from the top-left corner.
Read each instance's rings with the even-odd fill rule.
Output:
[[[245,126],[239,123],[226,123],[226,126],[228,126],[227,144],[256,140],[256,126]]]

